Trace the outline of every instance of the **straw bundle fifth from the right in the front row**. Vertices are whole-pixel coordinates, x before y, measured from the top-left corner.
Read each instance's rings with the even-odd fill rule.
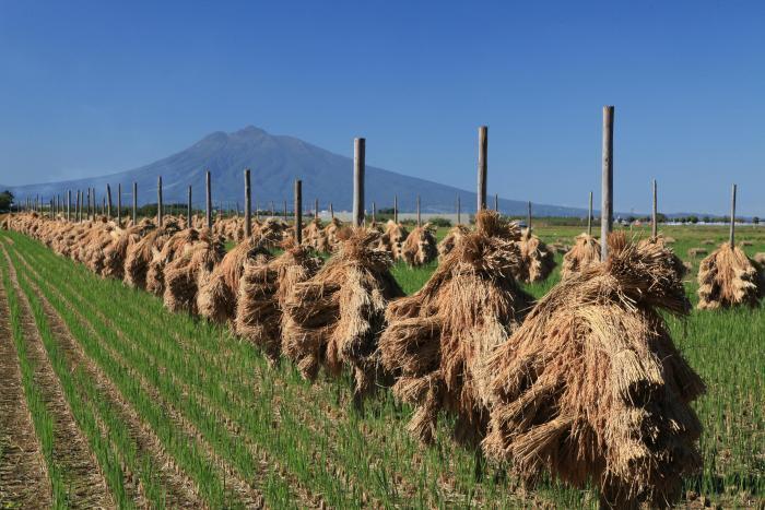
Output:
[[[268,256],[268,250],[252,236],[226,253],[212,272],[202,272],[197,294],[199,315],[215,322],[234,320],[239,280],[245,266],[259,256]]]

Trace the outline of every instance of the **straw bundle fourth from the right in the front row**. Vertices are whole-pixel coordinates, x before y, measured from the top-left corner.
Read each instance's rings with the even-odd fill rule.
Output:
[[[285,241],[284,253],[270,259],[267,256],[248,260],[239,280],[239,300],[236,308],[236,333],[259,345],[269,361],[281,354],[282,309],[293,287],[313,277],[321,266],[306,246]]]

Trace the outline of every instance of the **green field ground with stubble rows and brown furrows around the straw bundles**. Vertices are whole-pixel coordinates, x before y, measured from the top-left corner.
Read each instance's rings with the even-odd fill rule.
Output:
[[[537,233],[570,244],[579,232]],[[711,251],[727,229],[663,234],[694,265],[695,303],[687,250]],[[740,227],[738,239],[765,251],[765,228]],[[434,268],[393,272],[411,293]],[[593,490],[554,481],[529,490],[503,466],[476,470],[448,417],[423,448],[389,391],[354,410],[350,377],[311,386],[225,328],[169,313],[22,235],[0,233],[0,508],[597,507]],[[557,278],[528,289],[540,297]],[[668,320],[708,386],[695,403],[705,467],[686,481],[685,503],[764,506],[765,310]]]

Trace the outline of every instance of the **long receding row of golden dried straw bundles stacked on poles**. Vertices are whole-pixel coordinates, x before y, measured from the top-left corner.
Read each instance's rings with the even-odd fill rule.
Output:
[[[229,322],[272,363],[285,356],[308,379],[320,369],[350,370],[356,399],[392,384],[399,400],[414,405],[409,428],[424,441],[447,413],[456,418],[456,439],[480,446],[529,484],[546,471],[576,487],[596,484],[613,508],[676,501],[682,478],[701,467],[691,402],[705,388],[661,313],[691,308],[684,266],[663,238],[636,242],[614,234],[601,262],[598,241],[579,236],[564,257],[561,283],[534,304],[519,282],[549,273],[549,250],[483,211],[474,230],[449,233],[429,281],[404,297],[390,268],[408,237],[391,223],[338,226],[325,264],[311,242],[281,245],[274,253],[257,236],[223,256],[210,233],[172,223],[125,229],[119,247],[104,246],[115,230],[108,222],[61,226],[23,215],[10,227],[83,263],[94,257],[84,244],[123,252],[127,283],[145,286],[157,257],[165,295],[180,289],[179,304],[165,299],[169,308]],[[128,260],[143,264],[143,276]],[[716,275],[704,276],[719,287],[715,296],[728,296],[735,277],[753,282],[746,264],[745,256],[716,261]],[[717,303],[748,303],[730,296]]]

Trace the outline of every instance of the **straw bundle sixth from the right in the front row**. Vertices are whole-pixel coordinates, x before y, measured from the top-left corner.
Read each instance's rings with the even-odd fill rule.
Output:
[[[163,301],[170,311],[196,315],[199,280],[221,263],[226,253],[223,241],[210,230],[202,230],[199,240],[187,244],[179,256],[164,269],[165,292]]]

